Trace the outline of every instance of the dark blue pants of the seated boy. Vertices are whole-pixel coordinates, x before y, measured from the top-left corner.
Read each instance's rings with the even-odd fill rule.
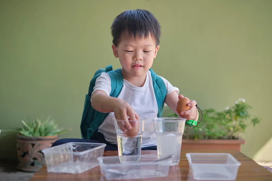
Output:
[[[77,138],[63,138],[55,141],[51,147],[57,146],[60,144],[64,143],[69,143],[69,142],[81,142],[81,143],[105,143],[107,144],[105,147],[105,151],[113,151],[113,150],[118,150],[118,147],[116,144],[112,144],[108,141],[105,140],[104,136],[102,133],[97,133],[95,136],[95,139],[77,139]],[[150,147],[145,147],[142,148],[142,150],[157,150],[157,146],[150,146]]]

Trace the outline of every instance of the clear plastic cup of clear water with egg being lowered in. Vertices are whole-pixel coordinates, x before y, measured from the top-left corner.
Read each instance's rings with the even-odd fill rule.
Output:
[[[123,132],[122,130],[124,130],[125,125],[127,123],[130,123],[132,128],[130,130],[127,130],[126,132]],[[119,157],[123,155],[139,155],[139,156],[141,155],[144,123],[145,123],[145,119],[140,119],[140,120],[114,119]],[[133,160],[123,160],[123,161],[133,162],[138,160],[133,159]]]

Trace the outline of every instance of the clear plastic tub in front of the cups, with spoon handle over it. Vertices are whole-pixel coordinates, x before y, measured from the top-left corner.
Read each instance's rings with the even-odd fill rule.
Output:
[[[131,163],[136,158],[139,161]],[[168,176],[171,160],[154,162],[157,159],[157,154],[147,154],[99,157],[97,160],[101,173],[107,180],[121,180]]]

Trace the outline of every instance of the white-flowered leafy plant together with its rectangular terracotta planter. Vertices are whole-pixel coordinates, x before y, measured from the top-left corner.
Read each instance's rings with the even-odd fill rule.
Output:
[[[245,131],[250,119],[248,110],[251,109],[244,99],[240,98],[232,107],[225,110],[202,110],[202,121],[195,127],[185,127],[182,150],[237,150],[241,151],[241,144],[245,141],[240,134]],[[169,117],[177,117],[171,114]],[[260,119],[254,117],[251,124],[255,126]]]

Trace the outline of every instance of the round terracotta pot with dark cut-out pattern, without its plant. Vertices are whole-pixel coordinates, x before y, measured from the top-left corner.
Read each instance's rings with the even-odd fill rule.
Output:
[[[25,172],[37,172],[44,166],[44,154],[58,140],[58,135],[45,137],[28,137],[17,135],[17,168]]]

